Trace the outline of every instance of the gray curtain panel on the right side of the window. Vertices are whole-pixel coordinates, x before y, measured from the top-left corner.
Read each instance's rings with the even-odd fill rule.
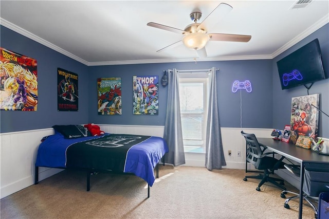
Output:
[[[222,166],[226,166],[217,104],[216,69],[214,67],[211,68],[209,75],[209,89],[206,134],[206,168],[212,170],[221,169]]]

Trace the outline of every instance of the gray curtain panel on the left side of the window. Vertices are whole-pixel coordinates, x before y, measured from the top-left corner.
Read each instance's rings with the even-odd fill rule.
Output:
[[[168,70],[168,102],[163,138],[167,141],[169,153],[165,163],[179,166],[185,163],[183,135],[179,106],[179,76],[177,69]]]

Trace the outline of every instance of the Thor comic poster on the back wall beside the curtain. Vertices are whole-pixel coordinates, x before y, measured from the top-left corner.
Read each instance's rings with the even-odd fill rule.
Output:
[[[133,77],[133,114],[158,115],[159,78],[158,76]]]

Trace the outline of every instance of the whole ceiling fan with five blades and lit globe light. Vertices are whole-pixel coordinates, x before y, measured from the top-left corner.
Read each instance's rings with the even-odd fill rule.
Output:
[[[202,13],[199,11],[192,12],[190,14],[191,20],[194,22],[184,30],[169,27],[162,24],[150,22],[147,25],[150,27],[159,28],[175,33],[182,34],[183,37],[180,41],[175,42],[169,46],[159,49],[157,52],[172,48],[183,43],[187,48],[196,50],[199,57],[207,57],[206,44],[209,40],[211,41],[231,41],[231,42],[248,42],[251,39],[251,35],[240,35],[240,34],[227,34],[227,33],[208,33],[208,28],[214,26],[219,20],[226,16],[231,10],[232,6],[221,3],[219,4],[203,22],[198,23]]]

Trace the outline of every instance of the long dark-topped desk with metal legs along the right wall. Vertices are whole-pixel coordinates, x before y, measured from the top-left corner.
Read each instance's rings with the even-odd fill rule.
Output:
[[[320,155],[315,151],[307,150],[301,147],[297,147],[295,144],[286,143],[284,141],[273,140],[272,138],[257,138],[259,143],[267,146],[267,149],[276,152],[288,159],[294,160],[300,163],[300,190],[299,194],[303,194],[303,182],[304,182],[304,169],[306,163],[329,163],[329,156]],[[303,212],[303,196],[300,195],[299,199],[299,217],[302,218]]]

